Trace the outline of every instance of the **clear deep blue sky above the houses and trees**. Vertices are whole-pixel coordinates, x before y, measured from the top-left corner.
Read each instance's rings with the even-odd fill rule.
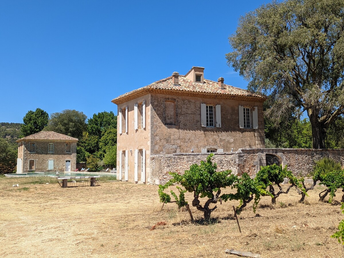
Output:
[[[263,1],[0,1],[0,122],[37,107],[87,117],[177,71],[246,89],[228,36]]]

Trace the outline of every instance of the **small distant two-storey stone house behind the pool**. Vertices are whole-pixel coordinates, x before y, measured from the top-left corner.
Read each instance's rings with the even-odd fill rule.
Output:
[[[52,131],[41,131],[17,140],[17,173],[74,171],[77,141]]]

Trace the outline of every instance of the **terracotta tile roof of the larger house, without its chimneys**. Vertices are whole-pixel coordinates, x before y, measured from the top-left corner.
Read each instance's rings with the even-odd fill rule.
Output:
[[[130,98],[132,95],[133,97],[139,93],[148,93],[154,90],[171,90],[175,92],[185,92],[185,93],[199,93],[199,94],[219,94],[225,96],[233,96],[233,97],[248,97],[248,98],[256,98],[261,99],[264,101],[266,99],[265,96],[256,94],[251,91],[243,90],[237,87],[233,87],[227,84],[224,84],[224,89],[220,89],[218,87],[218,82],[214,82],[211,80],[204,79],[204,83],[193,82],[184,75],[179,75],[179,85],[174,85],[172,82],[172,76],[167,77],[165,79],[153,82],[147,86],[144,86],[140,89],[133,90],[131,92],[125,93],[123,95],[118,96],[117,98],[112,99],[111,102],[118,104],[125,102]]]

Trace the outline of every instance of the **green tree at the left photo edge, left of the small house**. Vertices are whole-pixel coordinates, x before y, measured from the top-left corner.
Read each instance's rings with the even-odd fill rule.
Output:
[[[18,144],[9,144],[5,139],[0,138],[0,174],[12,173],[15,171],[18,157]]]

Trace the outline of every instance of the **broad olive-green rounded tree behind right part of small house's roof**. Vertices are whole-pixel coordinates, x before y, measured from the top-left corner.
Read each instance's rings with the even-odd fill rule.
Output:
[[[86,119],[87,116],[83,112],[66,109],[61,113],[57,112],[51,114],[48,125],[44,130],[54,131],[81,139],[83,132],[87,129]]]

